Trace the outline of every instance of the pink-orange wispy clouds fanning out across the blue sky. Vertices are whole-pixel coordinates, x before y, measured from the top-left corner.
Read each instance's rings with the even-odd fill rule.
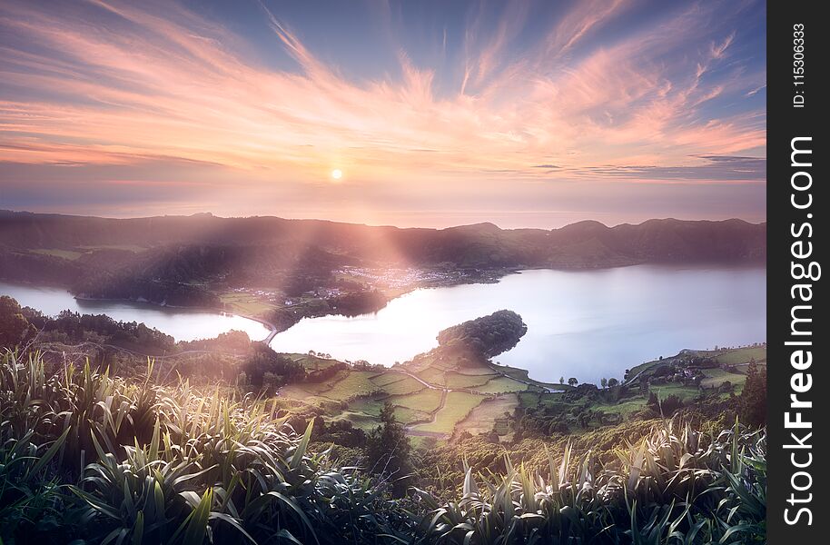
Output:
[[[718,106],[759,93],[764,78],[736,52],[736,28],[709,25],[726,4],[629,25],[641,2],[577,2],[544,12],[534,40],[544,5],[519,2],[495,18],[472,10],[467,27],[437,33],[454,66],[400,46],[397,71],[367,78],[257,2],[270,43],[172,3],[0,5],[0,162],[181,161],[241,185],[321,183],[336,166],[343,183],[389,191],[480,173],[508,186],[517,175],[619,173],[730,183],[712,157],[763,156],[762,107]],[[294,65],[270,62],[268,47]],[[757,164],[746,171],[762,178]]]

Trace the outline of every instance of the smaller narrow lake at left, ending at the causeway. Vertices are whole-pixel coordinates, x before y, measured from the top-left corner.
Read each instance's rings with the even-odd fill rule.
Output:
[[[122,322],[144,322],[176,341],[210,339],[219,333],[240,330],[254,341],[262,341],[270,330],[260,322],[221,312],[172,309],[151,304],[120,301],[77,300],[60,288],[42,288],[0,282],[0,295],[14,297],[22,306],[54,315],[65,309],[82,314],[106,314]]]

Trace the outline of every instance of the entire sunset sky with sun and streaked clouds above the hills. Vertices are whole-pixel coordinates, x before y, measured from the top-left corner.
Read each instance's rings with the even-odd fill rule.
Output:
[[[766,5],[4,0],[0,209],[766,220]]]

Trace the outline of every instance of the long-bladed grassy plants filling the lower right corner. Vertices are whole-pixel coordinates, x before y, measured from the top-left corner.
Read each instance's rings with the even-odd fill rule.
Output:
[[[662,543],[766,542],[766,437],[761,432],[706,433],[667,422],[618,451],[613,470],[588,453],[561,458],[547,451],[544,468],[466,474],[456,494],[439,503],[430,542]],[[692,463],[689,461],[692,460]]]

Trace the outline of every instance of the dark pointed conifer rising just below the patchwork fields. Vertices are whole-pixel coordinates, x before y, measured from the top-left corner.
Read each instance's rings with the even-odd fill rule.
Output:
[[[380,426],[366,438],[366,456],[369,470],[394,479],[396,495],[406,493],[410,465],[410,439],[403,426],[395,419],[395,407],[386,401],[380,410]]]

